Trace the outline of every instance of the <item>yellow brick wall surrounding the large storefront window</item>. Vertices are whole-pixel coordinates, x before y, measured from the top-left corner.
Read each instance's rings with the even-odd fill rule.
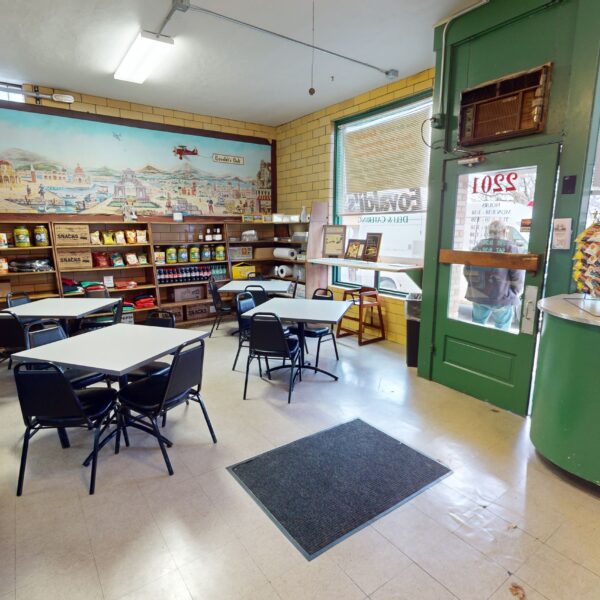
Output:
[[[333,121],[432,89],[433,77],[434,70],[427,69],[277,127],[277,210],[299,213],[314,200],[331,206]],[[334,288],[334,292],[341,299],[343,288]],[[404,301],[393,296],[380,298],[387,339],[405,346]],[[353,312],[358,313],[354,308],[350,314]]]

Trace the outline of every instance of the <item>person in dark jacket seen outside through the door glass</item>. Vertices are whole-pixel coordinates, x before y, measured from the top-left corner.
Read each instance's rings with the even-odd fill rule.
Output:
[[[496,220],[488,226],[488,237],[480,240],[473,251],[516,253],[519,248],[509,241],[507,225]],[[465,297],[473,303],[473,323],[485,325],[491,316],[496,329],[508,331],[514,307],[521,303],[524,271],[465,266],[463,272],[468,283]]]

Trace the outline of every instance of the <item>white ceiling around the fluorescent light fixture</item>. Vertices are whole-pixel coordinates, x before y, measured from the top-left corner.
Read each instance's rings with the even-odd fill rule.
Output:
[[[474,0],[315,0],[315,44],[400,77],[433,64],[433,25]],[[192,0],[311,41],[311,0]],[[387,83],[377,71],[188,11],[164,33],[175,51],[142,85],[113,73],[139,29],[170,0],[0,0],[0,81],[279,125]],[[332,81],[333,76],[333,81]]]

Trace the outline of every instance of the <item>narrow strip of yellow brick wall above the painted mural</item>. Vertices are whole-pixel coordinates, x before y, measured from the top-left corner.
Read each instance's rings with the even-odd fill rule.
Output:
[[[31,85],[24,85],[27,91],[32,91]],[[238,135],[252,135],[256,137],[275,139],[276,128],[259,123],[246,123],[233,119],[199,115],[197,113],[184,112],[171,108],[160,108],[147,104],[136,104],[125,100],[113,100],[101,96],[90,96],[78,92],[56,90],[52,88],[39,88],[42,94],[63,93],[75,97],[73,104],[42,100],[42,106],[62,108],[75,112],[86,112],[108,117],[121,117],[123,119],[134,119],[149,123],[163,123],[165,125],[179,125],[181,127],[192,127],[194,129],[205,129],[207,131],[220,131],[223,133],[236,133]],[[33,104],[34,98],[27,98],[27,102]]]

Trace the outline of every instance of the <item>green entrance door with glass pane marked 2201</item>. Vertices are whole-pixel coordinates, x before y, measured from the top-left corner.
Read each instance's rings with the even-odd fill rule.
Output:
[[[558,157],[559,146],[551,144],[446,166],[440,247],[459,252],[445,253],[455,264],[438,264],[432,378],[521,415],[529,402]],[[487,253],[502,266],[458,264],[484,256],[467,259],[460,251]],[[509,268],[510,257],[499,253],[538,255],[540,267]]]

